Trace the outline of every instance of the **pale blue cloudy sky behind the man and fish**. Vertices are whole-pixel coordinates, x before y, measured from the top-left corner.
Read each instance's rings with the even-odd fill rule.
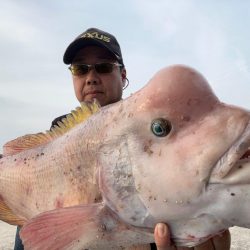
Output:
[[[250,1],[0,0],[0,152],[78,106],[67,46],[90,27],[120,43],[124,98],[161,68],[202,73],[222,102],[250,109]]]

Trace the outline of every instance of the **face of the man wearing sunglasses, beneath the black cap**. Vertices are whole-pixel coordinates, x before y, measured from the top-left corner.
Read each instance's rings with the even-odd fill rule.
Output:
[[[72,64],[96,64],[116,62],[104,48],[87,46],[79,50]],[[84,75],[72,75],[75,95],[79,102],[97,99],[101,106],[121,100],[126,70],[113,67],[111,73],[97,73],[94,68]]]

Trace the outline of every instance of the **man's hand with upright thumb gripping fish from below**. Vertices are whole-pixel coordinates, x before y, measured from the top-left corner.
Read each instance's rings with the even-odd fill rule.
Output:
[[[217,235],[196,247],[175,247],[171,245],[169,229],[167,225],[163,223],[156,225],[154,236],[158,250],[229,250],[231,241],[230,233],[226,230],[221,235]]]

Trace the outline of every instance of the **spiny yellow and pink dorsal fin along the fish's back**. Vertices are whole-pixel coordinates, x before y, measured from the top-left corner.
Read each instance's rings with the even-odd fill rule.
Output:
[[[53,139],[65,134],[77,124],[85,121],[99,109],[100,105],[97,101],[94,101],[93,103],[82,102],[80,107],[72,110],[71,113],[66,116],[66,118],[63,118],[62,121],[59,121],[57,125],[54,125],[45,133],[28,134],[7,142],[3,146],[3,155],[15,155],[26,149],[35,148],[46,144]]]

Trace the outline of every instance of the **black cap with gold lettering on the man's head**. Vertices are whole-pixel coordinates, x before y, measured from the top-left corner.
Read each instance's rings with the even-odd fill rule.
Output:
[[[110,33],[96,28],[87,29],[68,46],[63,56],[63,62],[65,64],[71,64],[76,53],[80,49],[90,45],[107,49],[115,56],[120,64],[124,65],[121,48],[116,38]]]

